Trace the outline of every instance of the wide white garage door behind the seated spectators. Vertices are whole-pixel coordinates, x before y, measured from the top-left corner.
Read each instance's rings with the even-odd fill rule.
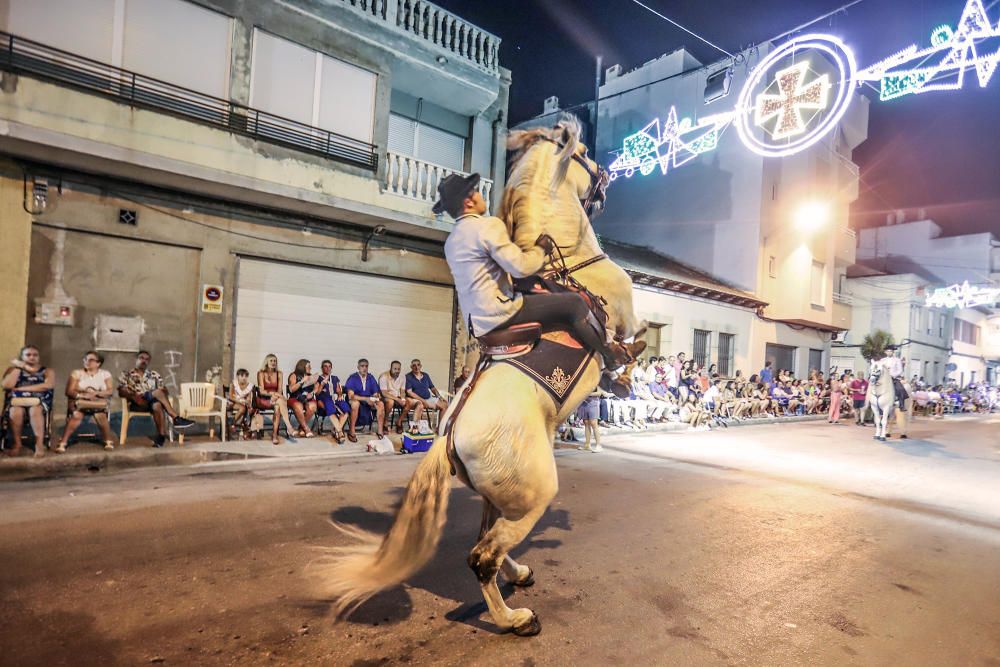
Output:
[[[450,382],[453,290],[394,278],[241,259],[234,370],[256,376],[275,354],[288,377],[299,359],[333,362],[341,380],[365,357],[377,377],[419,358],[442,390]]]

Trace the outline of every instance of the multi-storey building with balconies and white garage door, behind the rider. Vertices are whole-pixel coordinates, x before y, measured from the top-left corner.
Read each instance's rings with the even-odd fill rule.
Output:
[[[8,0],[0,30],[0,354],[452,376],[431,205],[502,189],[497,36],[423,0]]]

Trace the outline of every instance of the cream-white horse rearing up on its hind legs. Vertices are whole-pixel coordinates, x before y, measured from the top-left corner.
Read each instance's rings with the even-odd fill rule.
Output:
[[[552,217],[531,218],[537,223],[533,231],[525,232],[518,224],[518,238],[526,234],[533,243],[539,233],[547,232],[557,243],[569,246],[570,262],[596,260],[574,275],[607,299],[609,328],[614,327],[624,337],[632,336],[640,325],[631,310],[631,280],[611,261],[599,258],[603,253],[577,198],[581,184],[589,180],[583,166],[573,159],[585,150],[578,143],[579,125],[549,132],[563,142],[563,147],[545,140],[526,148],[514,166],[514,183],[520,184],[515,187],[529,187],[525,174],[531,171],[533,179],[544,184],[546,191],[551,187],[560,193],[555,198],[558,205],[545,213]],[[522,170],[522,162],[532,163],[532,168]],[[508,191],[504,201],[510,207],[521,200]],[[508,554],[527,537],[559,490],[555,429],[597,386],[601,377],[599,358],[590,360],[558,408],[549,394],[522,371],[510,364],[490,365],[481,371],[461,412],[455,416],[460,402],[453,401],[441,420],[442,424],[454,420],[450,437],[458,459],[455,469],[459,479],[483,497],[483,522],[479,541],[468,557],[469,567],[479,579],[493,621],[518,635],[538,634],[541,624],[531,609],[507,606],[497,587],[497,573],[502,571],[508,581],[518,586],[534,583],[531,569],[514,562]],[[320,593],[335,599],[338,614],[399,585],[434,555],[452,487],[453,461],[447,445],[447,437],[436,438],[413,473],[384,537],[340,526],[354,538],[353,543],[328,549],[327,557],[310,567]]]

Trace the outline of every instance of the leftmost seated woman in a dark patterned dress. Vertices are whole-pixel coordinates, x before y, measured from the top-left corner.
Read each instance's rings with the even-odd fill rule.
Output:
[[[11,456],[21,453],[21,432],[25,421],[31,424],[35,436],[35,456],[45,456],[45,438],[48,434],[55,381],[55,373],[42,366],[41,355],[33,345],[21,348],[18,358],[11,361],[11,367],[4,372],[3,388],[8,398],[5,409],[8,411],[14,438],[14,446],[8,452]]]

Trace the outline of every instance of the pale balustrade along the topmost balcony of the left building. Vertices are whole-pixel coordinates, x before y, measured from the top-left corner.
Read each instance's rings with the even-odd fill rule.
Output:
[[[360,14],[428,41],[490,74],[500,69],[500,38],[425,0],[341,0]]]

